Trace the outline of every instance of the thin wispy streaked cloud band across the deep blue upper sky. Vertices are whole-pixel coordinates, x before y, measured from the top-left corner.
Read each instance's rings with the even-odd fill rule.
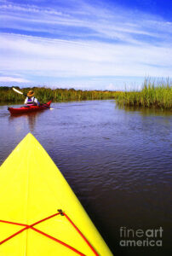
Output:
[[[86,28],[88,36],[91,33],[95,37],[117,39],[132,44],[139,44],[140,40],[146,39],[135,38],[136,35],[161,39],[163,33],[165,38],[171,41],[169,34],[172,33],[172,24],[155,15],[119,7],[110,9],[100,6],[100,3],[94,5],[86,1],[77,1],[77,3],[68,1],[68,3],[71,3],[71,8],[62,8],[60,4],[54,5],[54,8],[41,8],[28,4],[3,4],[0,6],[2,19],[0,26],[29,32],[49,32],[58,37],[60,34],[83,36],[78,30],[70,32],[69,27]],[[60,26],[63,28],[61,29]]]

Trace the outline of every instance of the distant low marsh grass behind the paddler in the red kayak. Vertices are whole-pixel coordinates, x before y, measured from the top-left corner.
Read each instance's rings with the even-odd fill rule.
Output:
[[[46,87],[33,87],[20,89],[26,94],[29,90],[34,90],[35,96],[39,102],[69,102],[69,101],[87,101],[87,100],[104,100],[114,99],[118,97],[118,92],[109,90],[74,90],[74,89],[50,89]],[[25,96],[22,96],[14,90],[12,87],[0,87],[0,102],[6,103],[21,103],[24,102]]]

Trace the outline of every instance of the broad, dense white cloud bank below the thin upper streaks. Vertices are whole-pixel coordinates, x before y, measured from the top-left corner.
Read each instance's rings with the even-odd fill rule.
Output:
[[[66,76],[170,76],[172,49],[0,35],[2,71]]]

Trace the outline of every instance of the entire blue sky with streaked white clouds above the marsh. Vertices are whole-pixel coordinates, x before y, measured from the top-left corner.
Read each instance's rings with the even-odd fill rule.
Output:
[[[172,1],[0,0],[0,59],[0,85],[140,89],[172,76]]]

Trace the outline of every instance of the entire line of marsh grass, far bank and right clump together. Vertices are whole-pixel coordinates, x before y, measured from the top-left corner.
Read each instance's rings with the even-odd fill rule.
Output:
[[[39,102],[70,102],[88,100],[116,99],[118,106],[133,106],[143,108],[172,109],[172,86],[169,79],[166,81],[151,82],[145,79],[140,91],[111,91],[111,90],[75,90],[75,89],[50,89],[46,87],[32,87],[16,89],[26,94],[34,90]],[[0,103],[23,103],[25,96],[22,96],[12,87],[0,87]]]

